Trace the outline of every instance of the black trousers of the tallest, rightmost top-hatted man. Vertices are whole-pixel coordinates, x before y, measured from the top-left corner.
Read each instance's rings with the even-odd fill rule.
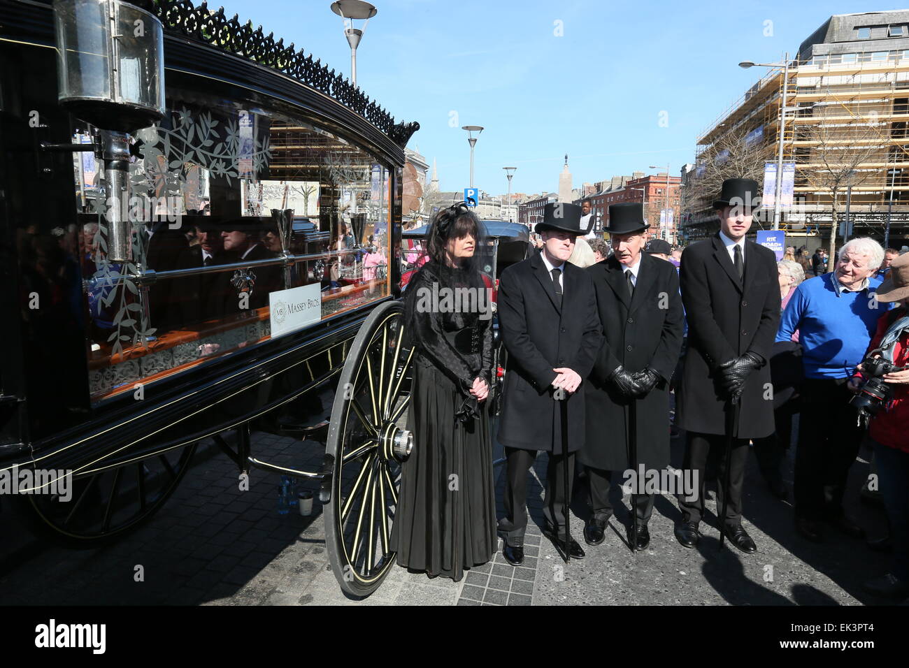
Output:
[[[723,513],[725,498],[725,445],[726,437],[716,434],[697,434],[688,432],[688,442],[684,449],[684,470],[692,471],[696,476],[698,493],[695,497],[684,494],[679,496],[679,507],[682,509],[683,522],[700,522],[704,517],[704,493],[706,491],[707,457],[714,451],[717,463],[716,475],[716,514]],[[748,439],[734,438],[732,454],[729,458],[729,502],[726,508],[726,526],[738,526],[742,523],[742,491],[744,489],[744,465],[748,461]],[[720,520],[722,522],[722,518]]]

